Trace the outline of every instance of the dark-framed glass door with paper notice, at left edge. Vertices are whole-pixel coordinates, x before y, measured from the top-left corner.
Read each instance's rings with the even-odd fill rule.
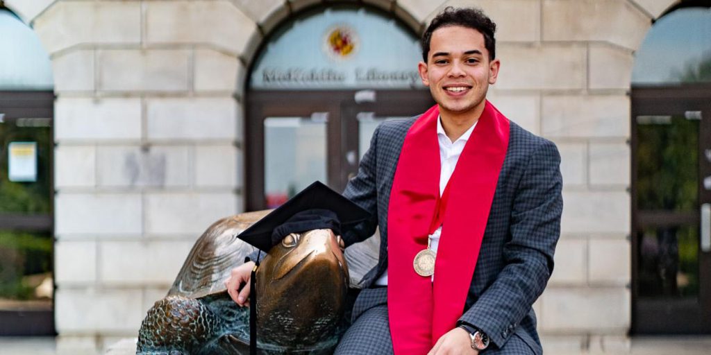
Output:
[[[0,335],[54,334],[52,92],[0,92]]]

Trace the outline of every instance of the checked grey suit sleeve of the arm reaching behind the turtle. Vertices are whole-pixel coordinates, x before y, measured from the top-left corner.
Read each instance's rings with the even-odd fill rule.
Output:
[[[346,190],[343,191],[343,196],[370,212],[370,219],[343,234],[343,242],[346,246],[373,236],[375,228],[378,226],[378,188],[375,184],[375,172],[379,132],[380,126],[375,129],[373,137],[370,138],[370,148],[358,164],[358,174],[348,181]]]

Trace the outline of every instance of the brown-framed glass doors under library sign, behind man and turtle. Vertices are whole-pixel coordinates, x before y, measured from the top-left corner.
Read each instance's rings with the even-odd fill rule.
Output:
[[[250,92],[247,210],[277,207],[314,180],[343,191],[380,122],[432,104],[427,90]]]

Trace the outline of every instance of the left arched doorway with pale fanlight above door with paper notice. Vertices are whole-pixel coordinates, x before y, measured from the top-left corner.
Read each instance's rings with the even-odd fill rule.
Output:
[[[53,80],[0,1],[0,336],[54,334]]]

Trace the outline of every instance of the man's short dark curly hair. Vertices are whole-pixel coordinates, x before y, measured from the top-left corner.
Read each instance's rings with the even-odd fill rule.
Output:
[[[479,31],[484,36],[484,47],[488,50],[489,60],[496,58],[496,39],[493,38],[493,33],[496,32],[496,23],[493,23],[491,18],[488,18],[481,9],[447,6],[432,19],[429,27],[422,34],[422,60],[424,62],[427,62],[429,41],[432,40],[432,33],[437,28],[448,26],[461,26]]]

